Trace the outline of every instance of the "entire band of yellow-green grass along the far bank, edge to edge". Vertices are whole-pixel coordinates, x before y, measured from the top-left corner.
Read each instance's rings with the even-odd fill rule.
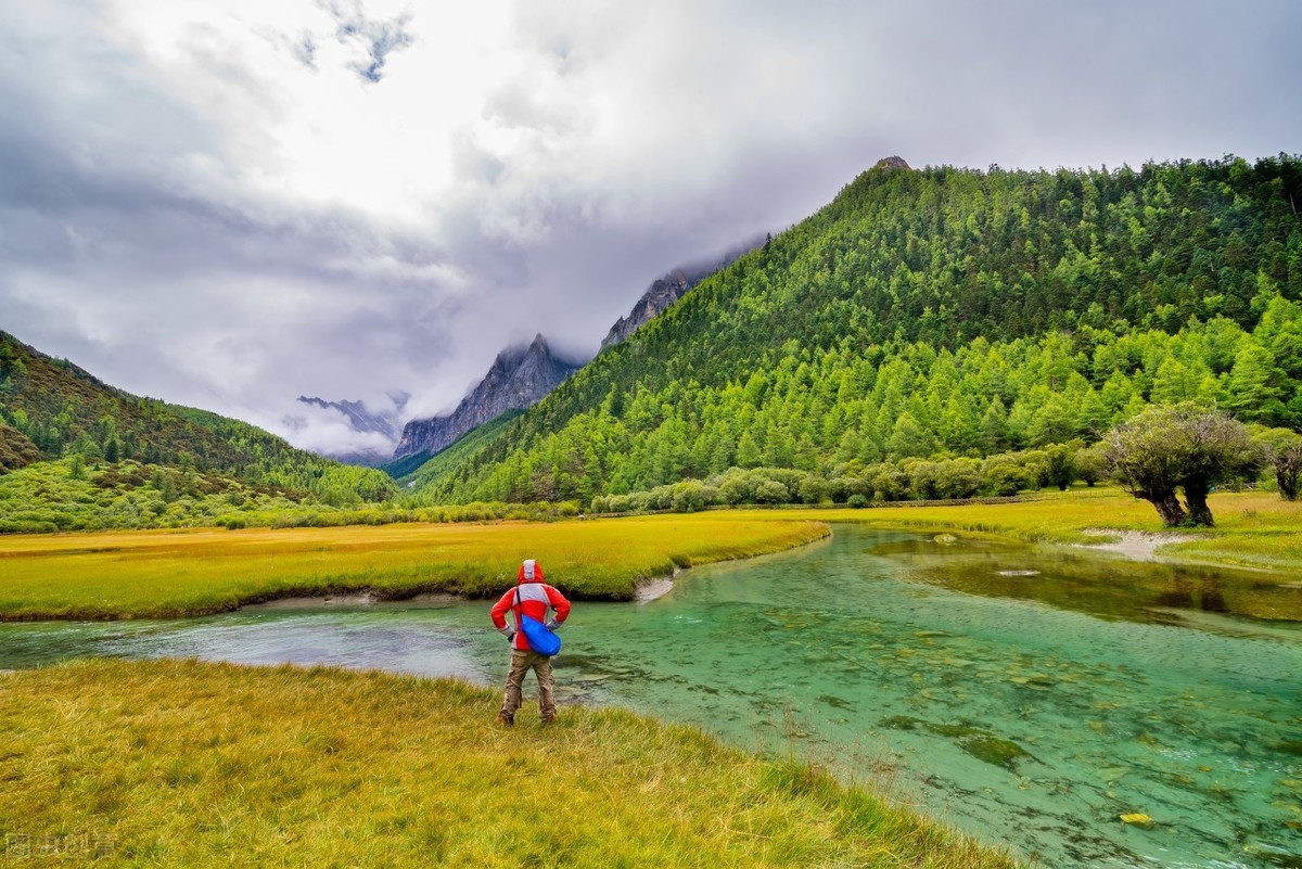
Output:
[[[1169,557],[1302,570],[1302,503],[1217,493],[1217,526]],[[500,592],[522,558],[577,598],[628,600],[676,567],[788,549],[825,523],[958,531],[1042,542],[1098,542],[1088,528],[1163,531],[1143,501],[1085,489],[1021,503],[866,510],[734,510],[556,523],[401,524],[143,531],[0,537],[0,621],[197,615],[240,604],[344,591],[401,597]]]

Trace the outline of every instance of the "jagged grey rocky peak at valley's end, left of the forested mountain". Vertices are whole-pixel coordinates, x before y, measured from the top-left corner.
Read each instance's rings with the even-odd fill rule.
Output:
[[[531,407],[578,368],[578,364],[553,355],[540,334],[525,347],[503,350],[488,373],[452,414],[408,423],[393,458],[421,453],[434,455],[508,410]]]

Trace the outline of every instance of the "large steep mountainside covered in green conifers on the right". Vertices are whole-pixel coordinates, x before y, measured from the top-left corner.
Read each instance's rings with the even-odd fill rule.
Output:
[[[875,168],[423,497],[587,502],[733,466],[853,477],[1088,441],[1148,402],[1297,428],[1299,202],[1284,155]]]

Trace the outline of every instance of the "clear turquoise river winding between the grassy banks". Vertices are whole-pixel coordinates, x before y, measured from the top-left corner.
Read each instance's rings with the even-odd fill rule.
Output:
[[[1147,591],[1128,596],[1131,574]],[[1302,866],[1302,628],[1151,592],[1194,580],[837,528],[690,571],[648,604],[575,606],[557,682],[569,702],[823,762],[1046,866]],[[4,624],[0,667],[195,656],[496,684],[506,649],[486,610],[427,600]],[[1152,822],[1120,821],[1130,813]]]

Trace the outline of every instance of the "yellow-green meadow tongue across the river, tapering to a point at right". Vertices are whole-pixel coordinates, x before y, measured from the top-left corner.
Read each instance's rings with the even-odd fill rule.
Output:
[[[124,531],[0,537],[0,619],[216,613],[293,595],[370,589],[501,593],[523,558],[586,600],[628,600],[641,579],[827,536],[754,514],[620,520]]]

